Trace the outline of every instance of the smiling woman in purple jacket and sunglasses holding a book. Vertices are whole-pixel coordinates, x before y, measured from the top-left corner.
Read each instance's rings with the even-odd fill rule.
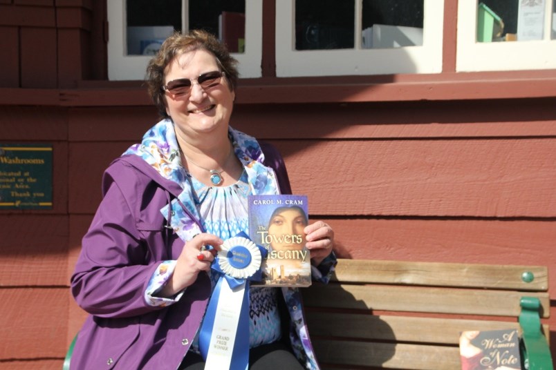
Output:
[[[91,313],[71,369],[203,368],[196,335],[215,284],[213,253],[247,233],[248,194],[290,193],[277,151],[229,125],[235,64],[201,31],[172,35],[149,63],[163,120],[104,173],[71,279]],[[313,276],[326,282],[333,231],[315,222],[304,233]],[[250,289],[252,369],[318,369],[300,305],[297,289]]]

